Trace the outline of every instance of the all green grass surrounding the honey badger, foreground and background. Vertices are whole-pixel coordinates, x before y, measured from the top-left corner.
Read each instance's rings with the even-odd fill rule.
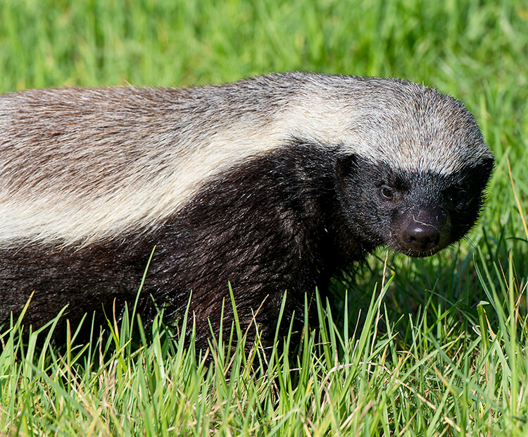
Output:
[[[15,327],[0,334],[0,435],[528,435],[526,0],[0,2],[1,92],[283,70],[394,76],[463,100],[496,156],[469,238],[351,266],[320,328],[267,355],[242,340],[208,366],[132,312],[67,350]]]

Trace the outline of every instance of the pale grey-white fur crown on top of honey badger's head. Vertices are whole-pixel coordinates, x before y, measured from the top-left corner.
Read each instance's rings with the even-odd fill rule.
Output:
[[[450,174],[492,158],[472,114],[452,97],[403,80],[324,79],[327,87],[310,83],[310,99],[289,113],[322,142],[407,171]]]

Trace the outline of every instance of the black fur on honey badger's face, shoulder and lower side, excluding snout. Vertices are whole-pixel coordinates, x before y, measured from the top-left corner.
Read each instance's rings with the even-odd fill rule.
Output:
[[[450,177],[413,174],[292,140],[210,181],[142,237],[120,235],[79,250],[20,242],[18,250],[0,252],[0,323],[20,312],[33,290],[26,324],[44,324],[65,304],[73,320],[84,312],[101,316],[101,307],[111,314],[114,300],[121,311],[134,301],[156,245],[142,292],[146,319],[153,314],[152,295],[168,320],[177,321],[192,290],[198,344],[206,346],[208,320],[218,329],[222,300],[224,326],[230,328],[230,281],[244,328],[263,304],[257,320],[269,341],[285,290],[287,316],[295,311],[302,320],[304,293],[314,293],[316,286],[325,293],[338,269],[378,245],[404,251],[394,223],[416,207],[441,211],[444,247],[465,235],[482,207],[492,165]],[[391,187],[397,202],[380,196],[382,187]]]

